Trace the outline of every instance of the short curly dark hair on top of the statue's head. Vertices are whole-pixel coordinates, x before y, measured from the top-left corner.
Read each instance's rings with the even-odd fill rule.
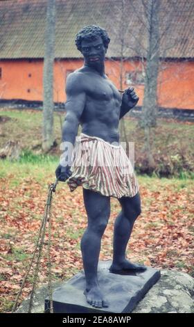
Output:
[[[100,36],[103,40],[103,45],[107,49],[109,45],[109,35],[105,29],[102,29],[100,26],[88,25],[81,29],[76,35],[76,47],[78,50],[82,50],[82,40],[95,40]]]

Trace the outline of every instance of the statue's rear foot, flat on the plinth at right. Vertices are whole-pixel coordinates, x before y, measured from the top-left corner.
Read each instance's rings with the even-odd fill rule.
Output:
[[[134,273],[138,273],[141,271],[145,271],[147,268],[143,266],[143,264],[132,264],[129,260],[124,260],[121,263],[112,263],[112,265],[109,268],[109,271],[111,273],[129,273],[132,271]]]

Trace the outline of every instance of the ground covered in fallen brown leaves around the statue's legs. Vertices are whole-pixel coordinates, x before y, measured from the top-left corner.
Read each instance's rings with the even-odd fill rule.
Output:
[[[32,256],[44,214],[48,184],[55,181],[56,162],[0,161],[0,312],[10,312]],[[193,180],[138,177],[142,214],[137,219],[127,256],[157,268],[193,275]],[[114,219],[120,210],[112,199],[112,214],[103,236],[101,260],[112,258]],[[53,280],[69,278],[82,269],[80,239],[87,225],[82,188],[70,193],[58,184],[53,198],[51,261]],[[43,253],[39,282],[46,281]],[[21,297],[30,292],[32,276]]]

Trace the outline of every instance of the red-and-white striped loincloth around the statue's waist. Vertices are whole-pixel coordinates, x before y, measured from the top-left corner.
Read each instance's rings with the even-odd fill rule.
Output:
[[[96,136],[81,133],[76,138],[71,171],[67,180],[71,191],[82,185],[114,198],[132,197],[139,191],[134,169],[121,144],[112,145]]]

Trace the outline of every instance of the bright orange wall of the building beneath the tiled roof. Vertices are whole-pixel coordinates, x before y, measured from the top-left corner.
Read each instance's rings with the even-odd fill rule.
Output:
[[[81,59],[56,60],[54,66],[54,101],[64,102],[65,80],[67,72],[82,66]],[[140,63],[125,62],[123,67],[123,80],[125,72],[138,69]],[[42,74],[43,61],[17,60],[0,61],[0,99],[25,99],[42,101]],[[120,63],[106,61],[105,72],[117,88],[121,88]],[[123,88],[127,88],[123,84]],[[139,95],[139,105],[143,100],[143,85],[134,85]],[[158,79],[158,104],[164,108],[194,109],[194,62],[167,62],[161,64]]]

